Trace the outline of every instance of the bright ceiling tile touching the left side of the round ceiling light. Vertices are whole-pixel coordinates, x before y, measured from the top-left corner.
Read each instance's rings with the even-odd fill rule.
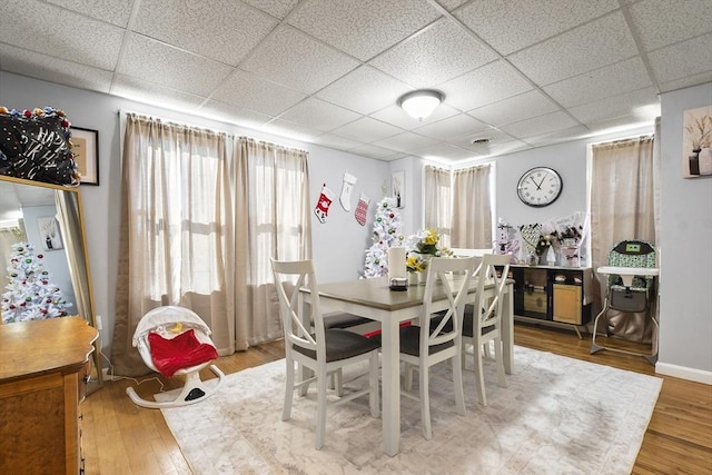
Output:
[[[362,66],[322,89],[316,96],[337,106],[370,113],[396,102],[411,88],[374,69]]]

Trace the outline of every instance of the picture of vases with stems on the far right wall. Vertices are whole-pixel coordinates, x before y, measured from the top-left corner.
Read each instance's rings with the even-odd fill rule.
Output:
[[[685,110],[682,120],[682,177],[712,176],[712,106]]]

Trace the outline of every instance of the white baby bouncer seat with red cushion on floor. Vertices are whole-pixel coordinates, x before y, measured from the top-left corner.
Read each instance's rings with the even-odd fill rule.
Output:
[[[210,362],[218,354],[210,339],[210,328],[192,310],[178,306],[154,308],[141,318],[134,333],[146,366],[166,377],[185,377],[180,394],[172,400],[146,400],[132,387],[126,393],[141,407],[166,408],[199,403],[215,394],[224,383],[225,374]],[[209,386],[200,380],[200,369],[210,365],[217,383]]]

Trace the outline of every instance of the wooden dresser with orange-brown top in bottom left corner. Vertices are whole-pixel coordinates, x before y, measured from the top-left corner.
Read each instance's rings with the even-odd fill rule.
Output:
[[[80,317],[0,325],[0,474],[78,474],[79,403],[96,328]]]

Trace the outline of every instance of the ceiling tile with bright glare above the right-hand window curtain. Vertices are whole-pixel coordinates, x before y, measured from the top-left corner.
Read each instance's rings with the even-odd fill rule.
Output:
[[[652,108],[652,109],[651,109]],[[637,91],[626,92],[620,96],[609,97],[583,106],[568,109],[576,119],[589,126],[590,123],[605,120],[611,117],[639,116],[649,118],[651,113],[660,115],[660,99],[652,87]],[[652,117],[655,117],[653,115]]]

